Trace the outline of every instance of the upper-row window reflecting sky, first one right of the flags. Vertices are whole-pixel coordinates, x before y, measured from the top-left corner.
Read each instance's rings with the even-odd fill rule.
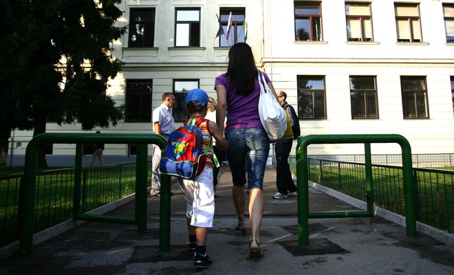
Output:
[[[318,2],[294,2],[295,40],[322,41],[321,12]]]

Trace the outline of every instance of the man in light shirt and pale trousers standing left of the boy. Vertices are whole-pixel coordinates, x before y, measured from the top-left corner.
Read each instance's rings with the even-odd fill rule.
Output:
[[[162,135],[166,139],[175,130],[172,107],[175,103],[175,96],[172,93],[162,94],[162,104],[153,110],[153,132]],[[153,158],[151,159],[151,196],[160,196],[161,173],[159,162],[161,159],[161,148],[153,144]]]

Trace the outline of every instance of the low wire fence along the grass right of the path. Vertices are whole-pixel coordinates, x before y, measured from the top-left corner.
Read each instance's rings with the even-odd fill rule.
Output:
[[[404,215],[402,166],[372,164],[374,203]],[[309,158],[309,180],[366,201],[365,164]],[[454,170],[413,168],[416,220],[454,233]]]

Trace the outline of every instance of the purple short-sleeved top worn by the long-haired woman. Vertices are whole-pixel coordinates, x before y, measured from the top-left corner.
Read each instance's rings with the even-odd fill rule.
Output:
[[[265,76],[266,83],[271,80]],[[235,87],[230,87],[230,81],[226,74],[221,74],[215,80],[216,85],[223,85],[227,90],[227,126],[226,132],[239,128],[263,128],[259,117],[260,86],[258,78],[255,78],[255,89],[247,96],[235,94]]]

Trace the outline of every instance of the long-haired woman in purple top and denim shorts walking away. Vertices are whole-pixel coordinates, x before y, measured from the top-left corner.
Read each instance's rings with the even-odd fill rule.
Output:
[[[276,91],[266,74],[266,83],[277,100]],[[260,225],[263,217],[263,175],[270,151],[270,140],[259,118],[260,86],[258,71],[250,46],[236,43],[228,52],[228,69],[215,80],[217,92],[217,125],[224,129],[226,110],[226,140],[228,164],[232,173],[233,203],[238,223],[235,226],[243,234],[246,232],[244,219],[244,184],[246,173],[249,190],[250,255],[263,256],[260,246]]]

